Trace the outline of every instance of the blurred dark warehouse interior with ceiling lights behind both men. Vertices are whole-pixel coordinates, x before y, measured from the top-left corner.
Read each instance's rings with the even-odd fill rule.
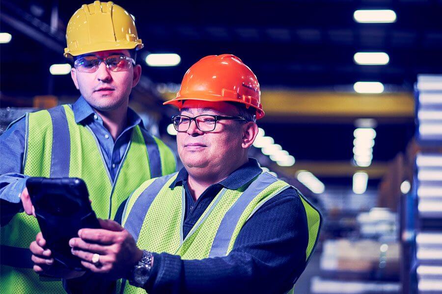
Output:
[[[252,156],[316,203],[297,293],[442,293],[442,1],[115,1],[144,49],[131,107],[176,149],[162,102],[201,57],[257,75]],[[1,129],[74,102],[65,30],[81,1],[1,0]]]

